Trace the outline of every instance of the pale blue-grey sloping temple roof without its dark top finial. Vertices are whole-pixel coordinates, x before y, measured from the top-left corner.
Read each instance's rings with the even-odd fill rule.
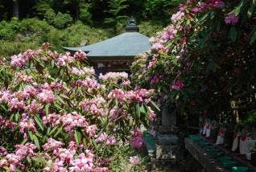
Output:
[[[126,32],[84,47],[63,47],[65,51],[85,51],[89,57],[133,57],[151,49],[149,38],[138,32]]]

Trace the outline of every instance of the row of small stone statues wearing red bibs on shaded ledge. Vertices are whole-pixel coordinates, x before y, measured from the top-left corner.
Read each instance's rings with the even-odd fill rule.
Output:
[[[200,128],[200,134],[205,137],[211,136],[211,130],[219,128],[217,133],[216,145],[223,145],[225,143],[225,133],[226,129],[224,126],[217,124],[217,121],[210,121],[208,118],[202,122]],[[250,160],[250,155],[253,152],[256,144],[256,136],[254,136],[254,129],[250,127],[244,127],[243,129],[234,129],[233,131],[233,145],[232,151],[236,152],[239,149],[239,154],[246,155],[246,158]]]

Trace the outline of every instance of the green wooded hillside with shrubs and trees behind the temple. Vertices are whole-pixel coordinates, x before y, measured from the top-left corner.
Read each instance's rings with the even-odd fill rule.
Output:
[[[152,36],[166,27],[181,0],[1,0],[0,56],[35,49],[83,46],[125,31],[136,18],[140,32]],[[163,10],[164,9],[164,10]]]

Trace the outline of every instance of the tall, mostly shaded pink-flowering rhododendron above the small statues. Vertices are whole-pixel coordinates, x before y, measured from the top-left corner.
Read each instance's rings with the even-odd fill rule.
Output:
[[[254,0],[184,3],[151,39],[151,52],[138,56],[134,82],[158,90],[159,102],[190,125],[200,114],[254,123],[255,7]]]

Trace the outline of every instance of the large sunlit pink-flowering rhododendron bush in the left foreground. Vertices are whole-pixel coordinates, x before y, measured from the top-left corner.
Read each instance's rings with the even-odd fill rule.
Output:
[[[0,171],[109,171],[110,160],[97,160],[111,159],[127,146],[130,129],[153,119],[154,91],[133,90],[126,72],[97,80],[85,52],[49,48],[45,43],[43,51],[13,55],[0,66],[8,76],[0,80],[0,131],[9,141],[0,147]],[[145,108],[146,120],[135,106]],[[138,147],[138,140],[131,142]]]

